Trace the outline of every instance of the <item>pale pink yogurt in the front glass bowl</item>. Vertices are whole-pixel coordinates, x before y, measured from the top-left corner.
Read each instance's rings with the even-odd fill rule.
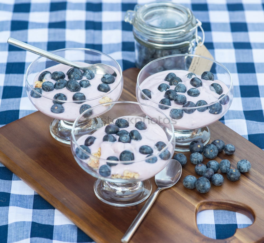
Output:
[[[101,148],[99,168],[100,166],[106,164],[106,161],[102,159],[107,159],[107,157],[109,156],[116,156],[117,158],[119,158],[120,153],[124,150],[129,150],[133,152],[135,161],[138,160],[138,162],[134,162],[132,164],[118,163],[116,166],[111,166],[111,175],[112,174],[123,175],[124,171],[128,170],[133,173],[138,173],[139,174],[138,180],[144,180],[144,179],[154,176],[166,166],[166,164],[168,163],[168,160],[162,160],[157,155],[158,160],[156,163],[153,163],[153,164],[147,163],[145,162],[147,155],[141,154],[139,152],[139,148],[142,145],[148,145],[153,149],[154,155],[158,154],[159,151],[155,148],[155,144],[158,141],[162,141],[168,144],[168,138],[166,136],[166,133],[163,131],[163,129],[158,124],[151,122],[150,119],[148,118],[143,118],[139,116],[122,116],[120,118],[126,119],[129,122],[129,127],[120,128],[120,130],[126,130],[128,132],[130,132],[131,130],[137,130],[137,128],[135,128],[135,123],[139,121],[143,121],[146,124],[147,128],[145,130],[138,130],[138,132],[142,136],[142,139],[141,140],[131,139],[131,143],[122,143],[122,142],[118,142],[119,136],[117,136],[116,134],[112,134],[116,138],[115,142],[102,141],[103,136],[106,135],[105,133],[106,125],[105,125],[99,128],[93,134],[83,135],[82,137],[80,137],[77,140],[78,145],[84,145],[84,141],[89,136],[96,137],[96,140],[91,146],[89,146],[89,149],[91,150],[91,154],[93,154],[93,153],[96,153],[99,148]],[[113,120],[113,123],[115,124],[115,120]],[[167,149],[169,150],[172,156],[173,147],[170,143],[168,144]],[[83,160],[83,162],[88,163],[89,160],[90,159],[86,159],[86,160]],[[111,177],[111,175],[109,177]]]

